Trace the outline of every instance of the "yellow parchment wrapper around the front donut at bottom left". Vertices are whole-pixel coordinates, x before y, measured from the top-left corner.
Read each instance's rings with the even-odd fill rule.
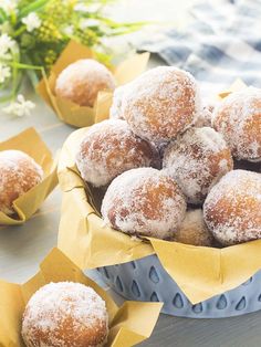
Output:
[[[161,309],[161,303],[125,302],[118,307],[111,296],[85,276],[61,251],[53,249],[39,273],[23,285],[0,281],[0,346],[22,347],[22,314],[30,297],[50,282],[72,281],[91,286],[106,303],[109,335],[106,346],[128,347],[148,338]]]

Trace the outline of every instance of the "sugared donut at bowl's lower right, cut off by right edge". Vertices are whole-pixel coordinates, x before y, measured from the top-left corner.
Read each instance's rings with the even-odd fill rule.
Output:
[[[222,244],[261,238],[261,174],[233,170],[209,192],[203,215],[208,229]]]

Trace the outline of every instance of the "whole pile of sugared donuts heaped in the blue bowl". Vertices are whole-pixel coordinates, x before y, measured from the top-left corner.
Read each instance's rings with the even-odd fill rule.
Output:
[[[196,80],[152,69],[114,91],[75,162],[105,191],[104,222],[133,236],[202,246],[261,238],[261,90],[202,106]]]

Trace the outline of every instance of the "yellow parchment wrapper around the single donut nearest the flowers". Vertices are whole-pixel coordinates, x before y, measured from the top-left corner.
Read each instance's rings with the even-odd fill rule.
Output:
[[[53,65],[50,76],[43,78],[36,90],[61,120],[75,127],[86,127],[108,117],[113,93],[100,92],[94,107],[79,106],[55,95],[56,77],[62,70],[80,59],[94,59],[94,54],[88,48],[71,41]],[[148,59],[149,53],[134,54],[118,66],[112,67],[117,85],[128,83],[143,73]]]

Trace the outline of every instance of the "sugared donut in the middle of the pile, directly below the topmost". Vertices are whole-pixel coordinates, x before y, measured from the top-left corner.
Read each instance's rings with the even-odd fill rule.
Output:
[[[189,203],[201,203],[209,189],[233,167],[222,136],[209,127],[190,128],[166,149],[163,166]]]

